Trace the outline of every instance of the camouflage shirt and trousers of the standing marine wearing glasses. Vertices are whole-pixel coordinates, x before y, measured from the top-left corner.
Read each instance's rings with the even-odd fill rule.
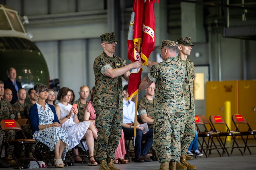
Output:
[[[125,60],[114,55],[109,57],[105,52],[98,56],[93,64],[95,75],[93,107],[96,114],[95,125],[99,130],[96,144],[98,160],[114,159],[123,122],[122,76],[111,78],[105,75],[105,71],[124,66],[126,66]]]

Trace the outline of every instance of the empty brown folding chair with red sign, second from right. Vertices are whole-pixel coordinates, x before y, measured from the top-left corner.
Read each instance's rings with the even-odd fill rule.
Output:
[[[224,140],[224,143],[222,142],[223,144],[223,151],[222,151],[222,155],[224,154],[224,150],[226,150],[228,156],[230,156],[232,153],[233,153],[233,149],[234,148],[237,148],[239,149],[239,151],[241,152],[241,154],[243,155],[243,152],[241,151],[240,148],[244,148],[244,147],[239,147],[237,141],[236,141],[236,136],[241,136],[241,133],[240,132],[236,132],[236,131],[231,131],[226,123],[226,121],[220,116],[220,115],[211,115],[210,116],[210,122],[211,122],[211,125],[214,129],[214,132],[217,132],[219,134],[220,137],[225,137],[225,140]],[[227,131],[226,132],[219,132],[218,130],[216,130],[216,125],[221,125],[221,126],[225,126],[227,128]],[[226,142],[227,142],[227,137],[228,136],[231,136],[233,138],[233,144],[232,144],[232,147],[226,147]],[[236,146],[234,146],[234,144],[236,143]],[[228,153],[228,148],[232,148],[231,149],[231,153],[229,154]]]

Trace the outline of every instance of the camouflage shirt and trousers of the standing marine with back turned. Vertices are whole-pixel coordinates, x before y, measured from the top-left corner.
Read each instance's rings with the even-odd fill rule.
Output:
[[[182,93],[185,69],[176,57],[168,57],[152,66],[148,77],[156,83],[153,145],[158,161],[178,162],[185,106]]]

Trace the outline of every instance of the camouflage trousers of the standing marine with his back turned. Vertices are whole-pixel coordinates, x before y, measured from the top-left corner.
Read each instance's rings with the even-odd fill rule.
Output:
[[[179,162],[184,113],[155,113],[153,145],[158,161]]]

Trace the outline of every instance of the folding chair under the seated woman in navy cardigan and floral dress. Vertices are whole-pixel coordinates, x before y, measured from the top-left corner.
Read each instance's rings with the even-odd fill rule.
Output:
[[[27,120],[26,124],[27,124],[27,127],[28,127],[29,131],[30,131],[30,134],[33,136],[33,134],[32,134],[32,126],[31,126],[31,123],[30,123],[29,119]],[[51,164],[54,165],[54,162],[52,161],[54,159],[54,157],[55,157],[54,152],[50,151],[49,147],[46,146],[44,143],[39,142],[38,144],[39,144],[38,147],[40,148],[39,149],[40,153],[42,153],[44,155],[45,160],[49,159]],[[72,160],[72,158],[71,158],[71,156],[70,156],[70,154],[69,154],[69,152],[67,152],[67,155],[68,155],[68,158],[70,159],[70,161],[72,162],[72,164],[75,165],[73,160]],[[63,162],[65,163],[65,166],[68,166],[68,164],[67,164],[67,162],[65,160],[63,160]],[[45,161],[45,163],[48,164],[48,161],[47,162]]]

